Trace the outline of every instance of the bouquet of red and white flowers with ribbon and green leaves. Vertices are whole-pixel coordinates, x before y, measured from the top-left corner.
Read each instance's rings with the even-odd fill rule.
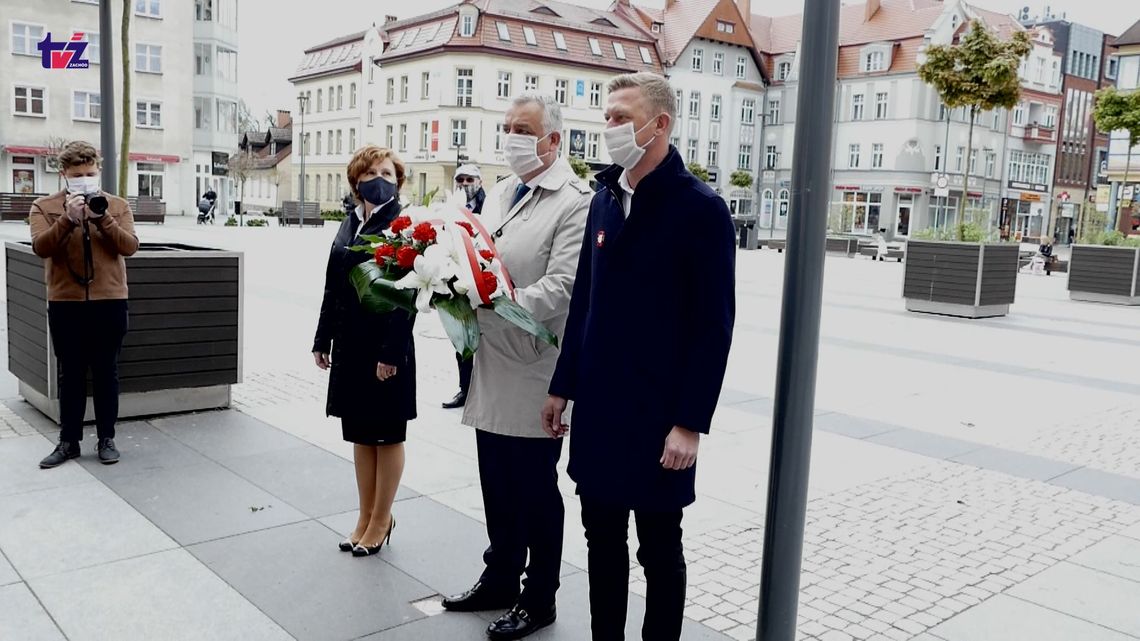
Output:
[[[400,212],[383,235],[360,236],[375,260],[352,269],[360,302],[377,313],[435,309],[465,358],[479,349],[477,308],[492,309],[515,326],[557,346],[557,336],[514,301],[511,275],[490,234],[466,209],[463,192],[434,206]]]

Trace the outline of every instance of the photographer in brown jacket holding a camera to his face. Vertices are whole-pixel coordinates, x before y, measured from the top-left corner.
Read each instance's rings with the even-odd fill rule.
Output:
[[[91,370],[97,452],[119,461],[119,350],[127,334],[127,261],[139,249],[127,201],[99,189],[99,156],[80,140],[59,154],[67,188],[32,204],[32,250],[44,259],[48,323],[59,362],[59,445],[40,462],[55,468],[79,457]]]

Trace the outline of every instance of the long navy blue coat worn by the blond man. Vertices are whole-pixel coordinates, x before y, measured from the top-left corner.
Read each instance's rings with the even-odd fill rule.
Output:
[[[695,466],[661,466],[674,425],[708,433],[735,317],[735,233],[720,196],[673,147],[628,219],[613,165],[597,175],[554,396],[575,401],[578,494],[630,509],[695,498]]]

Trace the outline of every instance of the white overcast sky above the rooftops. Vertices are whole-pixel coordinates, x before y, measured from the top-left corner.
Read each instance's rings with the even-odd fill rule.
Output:
[[[611,0],[569,0],[587,7],[608,7]],[[684,0],[682,0],[684,1]],[[1118,35],[1140,19],[1135,0],[972,0],[975,5],[1007,14],[1029,7],[1032,15],[1054,15]],[[280,0],[239,0],[238,79],[241,92],[254,116],[266,111],[294,108],[294,92],[286,80],[314,44],[360,31],[385,14],[406,18],[458,3],[458,0],[320,0],[306,3],[304,11],[283,10]],[[660,6],[662,0],[646,0]],[[845,2],[846,3],[846,2]],[[804,0],[752,0],[752,11],[766,15],[799,13]],[[318,8],[319,7],[319,8]]]

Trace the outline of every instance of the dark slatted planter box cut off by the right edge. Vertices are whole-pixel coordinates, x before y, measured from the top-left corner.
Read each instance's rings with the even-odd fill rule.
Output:
[[[1073,245],[1069,298],[1088,302],[1140,305],[1140,248]]]

